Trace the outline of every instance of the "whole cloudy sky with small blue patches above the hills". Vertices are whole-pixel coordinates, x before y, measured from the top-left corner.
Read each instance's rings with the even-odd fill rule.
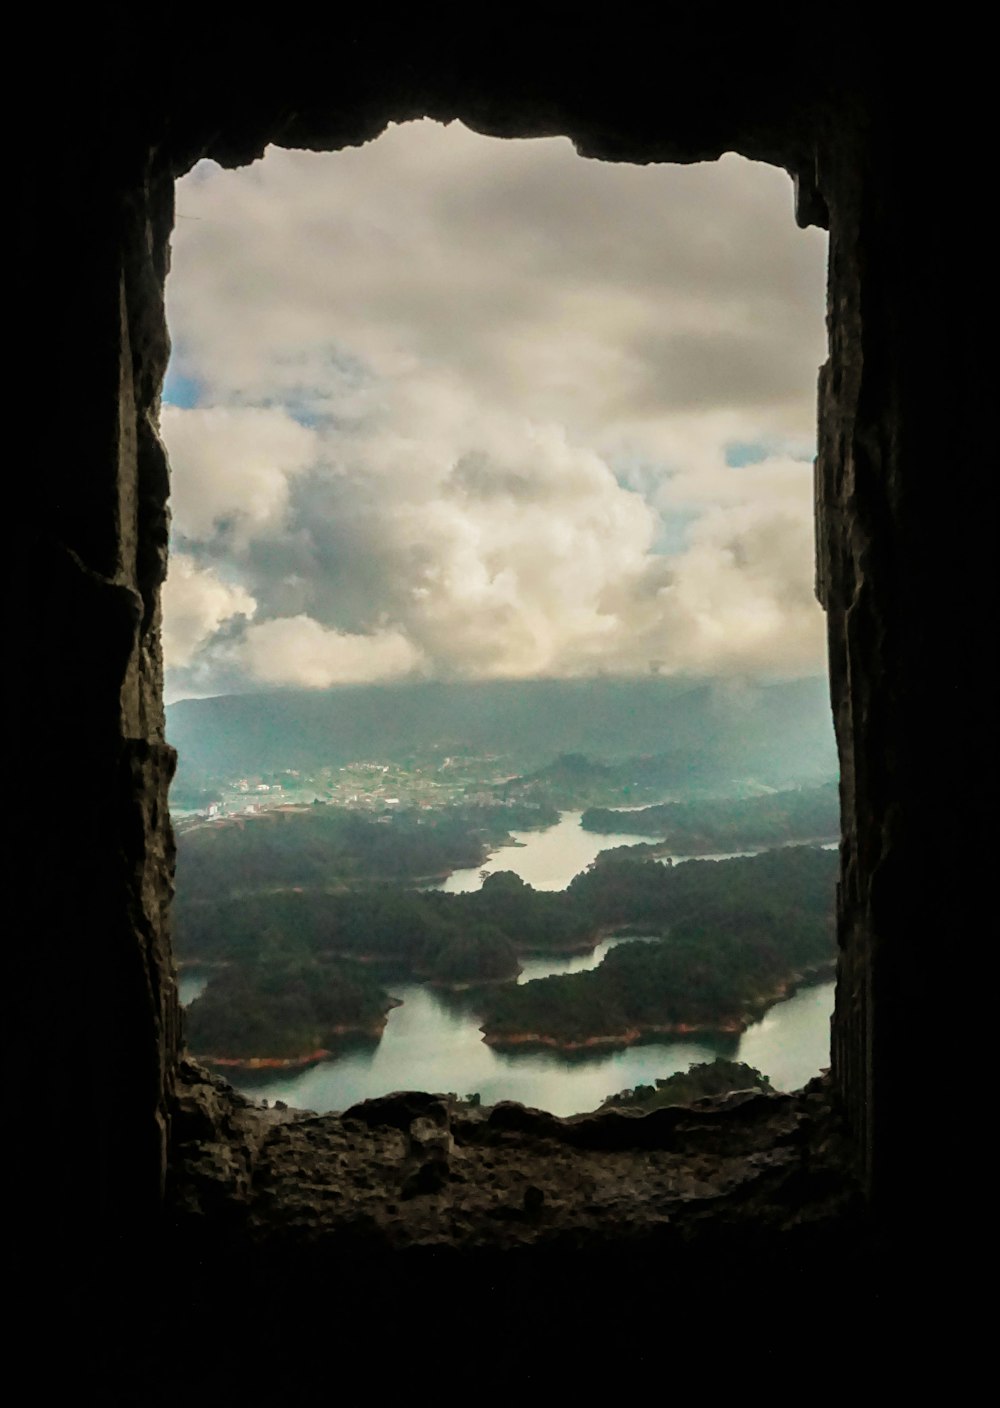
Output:
[[[168,698],[820,673],[825,244],[734,155],[421,121],[199,163],[168,279]]]

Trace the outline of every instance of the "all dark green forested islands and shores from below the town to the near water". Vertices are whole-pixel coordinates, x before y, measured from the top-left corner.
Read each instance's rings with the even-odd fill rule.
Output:
[[[831,970],[837,862],[817,848],[676,867],[630,848],[563,891],[510,872],[475,893],[414,888],[551,819],[514,814],[386,824],[317,807],[182,836],[177,952],[211,974],[187,1010],[190,1049],[244,1069],[325,1059],[377,1041],[393,980],[468,988],[485,1041],[511,1050],[734,1032]],[[587,973],[515,983],[527,955],[587,953],[615,934],[645,942]]]

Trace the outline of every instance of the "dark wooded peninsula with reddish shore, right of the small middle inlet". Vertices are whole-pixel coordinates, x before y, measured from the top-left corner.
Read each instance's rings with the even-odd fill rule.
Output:
[[[483,1005],[485,1038],[572,1048],[741,1031],[797,976],[832,966],[835,873],[837,857],[808,846],[676,867],[593,866],[568,900],[662,941],[623,943],[586,973],[497,990]]]

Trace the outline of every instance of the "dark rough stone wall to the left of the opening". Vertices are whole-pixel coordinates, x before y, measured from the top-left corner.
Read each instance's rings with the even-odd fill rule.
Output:
[[[180,1039],[156,432],[172,186],[146,170],[121,148],[69,149],[24,187],[34,218],[18,268],[34,303],[18,352],[35,376],[18,407],[31,434],[10,553],[10,893],[30,903],[11,945],[8,1035],[24,1063],[21,1231],[49,1284],[142,1255]]]

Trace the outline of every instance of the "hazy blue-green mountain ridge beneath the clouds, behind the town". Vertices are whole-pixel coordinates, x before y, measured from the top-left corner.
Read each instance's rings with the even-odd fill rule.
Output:
[[[168,738],[185,786],[444,755],[492,755],[511,770],[565,753],[597,763],[656,755],[696,786],[728,777],[815,781],[837,772],[821,679],[745,690],[658,677],[275,690],[173,704]]]

